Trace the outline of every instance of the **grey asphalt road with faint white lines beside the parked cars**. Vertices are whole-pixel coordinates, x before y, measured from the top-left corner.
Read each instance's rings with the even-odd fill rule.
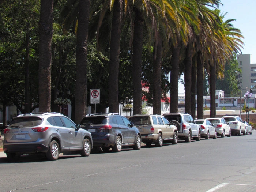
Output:
[[[256,132],[57,161],[3,157],[0,163],[0,192],[255,192]]]

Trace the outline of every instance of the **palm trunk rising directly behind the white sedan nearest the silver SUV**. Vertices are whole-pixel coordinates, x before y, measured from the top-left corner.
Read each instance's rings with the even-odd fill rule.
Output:
[[[203,65],[203,54],[201,50],[197,52],[197,118],[204,118],[204,96],[203,96],[203,80],[204,80],[204,65]]]

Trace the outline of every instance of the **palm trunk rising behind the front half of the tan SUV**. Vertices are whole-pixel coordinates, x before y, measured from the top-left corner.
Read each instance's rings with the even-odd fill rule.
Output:
[[[161,115],[162,39],[158,34],[153,51],[153,113]]]

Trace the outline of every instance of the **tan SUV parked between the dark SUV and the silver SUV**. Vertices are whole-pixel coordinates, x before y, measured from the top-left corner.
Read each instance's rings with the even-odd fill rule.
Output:
[[[129,117],[129,120],[139,129],[142,142],[148,147],[152,143],[161,147],[163,140],[169,140],[174,145],[178,143],[177,128],[161,115],[138,114]]]

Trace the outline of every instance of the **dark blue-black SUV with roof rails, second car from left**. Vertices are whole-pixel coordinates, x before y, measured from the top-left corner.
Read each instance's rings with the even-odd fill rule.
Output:
[[[83,117],[81,128],[91,132],[93,146],[120,152],[122,146],[133,146],[139,150],[141,135],[133,123],[118,113],[96,113]]]

